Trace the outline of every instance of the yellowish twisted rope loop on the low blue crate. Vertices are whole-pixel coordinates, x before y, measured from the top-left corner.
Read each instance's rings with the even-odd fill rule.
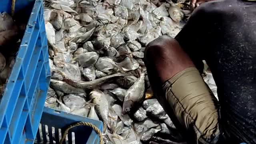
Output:
[[[78,122],[78,123],[76,123],[76,124],[73,124],[73,125],[69,126],[69,127],[65,130],[65,132],[64,132],[64,134],[63,134],[63,136],[62,136],[62,138],[61,138],[61,140],[60,140],[60,144],[62,144],[62,143],[64,142],[64,140],[65,140],[65,138],[66,138],[66,136],[67,136],[67,134],[68,134],[68,131],[69,131],[71,128],[74,128],[74,127],[76,127],[76,126],[90,126],[92,129],[95,130],[95,132],[96,132],[96,133],[98,134],[98,136],[100,137],[100,144],[104,144],[104,142],[103,142],[103,137],[102,137],[102,133],[101,133],[100,129],[97,128],[94,124],[92,124],[92,123],[90,123],[90,122]]]

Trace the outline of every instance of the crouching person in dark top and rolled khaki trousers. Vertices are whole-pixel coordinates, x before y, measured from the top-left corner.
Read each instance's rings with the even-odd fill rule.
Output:
[[[256,144],[256,1],[191,3],[198,7],[175,38],[146,46],[152,90],[188,144]]]

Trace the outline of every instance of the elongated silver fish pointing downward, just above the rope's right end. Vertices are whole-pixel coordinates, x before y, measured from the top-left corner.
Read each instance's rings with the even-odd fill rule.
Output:
[[[108,105],[108,101],[106,100],[106,96],[102,91],[98,89],[94,89],[92,90],[92,92],[90,92],[90,99],[92,99],[92,103],[96,104],[95,110],[100,120],[102,120],[104,123],[104,132],[105,132],[107,126],[109,126],[108,125],[109,105]]]

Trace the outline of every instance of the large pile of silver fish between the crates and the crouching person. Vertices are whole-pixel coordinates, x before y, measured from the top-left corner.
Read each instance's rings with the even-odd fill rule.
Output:
[[[146,44],[176,36],[186,0],[46,0],[52,79],[45,106],[102,120],[106,144],[183,143],[154,99]]]

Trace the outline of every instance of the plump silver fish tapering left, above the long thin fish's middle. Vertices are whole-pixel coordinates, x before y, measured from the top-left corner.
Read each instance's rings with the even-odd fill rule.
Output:
[[[97,62],[99,55],[96,52],[86,52],[79,54],[73,60],[78,61],[81,67],[92,66]]]

